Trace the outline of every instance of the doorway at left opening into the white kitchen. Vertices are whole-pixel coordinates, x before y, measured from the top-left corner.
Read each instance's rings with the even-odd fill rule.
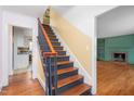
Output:
[[[32,29],[13,26],[12,72],[13,75],[31,73],[32,64]]]

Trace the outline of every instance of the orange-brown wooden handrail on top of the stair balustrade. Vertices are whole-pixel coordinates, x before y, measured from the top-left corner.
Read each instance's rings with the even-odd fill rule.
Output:
[[[57,52],[54,50],[54,48],[53,48],[53,46],[52,46],[52,43],[51,43],[51,40],[50,40],[50,38],[49,38],[49,36],[48,36],[45,29],[43,28],[43,26],[42,26],[42,24],[41,24],[41,22],[40,22],[39,18],[38,18],[38,21],[39,21],[39,25],[40,25],[40,27],[41,27],[41,29],[42,29],[42,33],[43,33],[43,35],[44,35],[44,38],[46,39],[46,42],[48,42],[48,45],[49,45],[49,47],[50,47],[50,50],[51,50],[51,52],[44,52],[43,54],[44,54],[44,55],[56,55]]]

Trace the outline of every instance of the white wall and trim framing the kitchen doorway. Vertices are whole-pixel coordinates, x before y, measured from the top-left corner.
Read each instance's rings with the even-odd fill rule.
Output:
[[[2,20],[2,85],[8,86],[8,76],[9,68],[12,68],[12,41],[10,40],[9,25],[27,27],[32,29],[32,40],[34,40],[34,50],[32,50],[32,77],[36,78],[37,75],[37,35],[38,35],[38,22],[35,17],[29,17],[18,13],[12,13],[3,11]],[[10,63],[10,64],[9,64]]]

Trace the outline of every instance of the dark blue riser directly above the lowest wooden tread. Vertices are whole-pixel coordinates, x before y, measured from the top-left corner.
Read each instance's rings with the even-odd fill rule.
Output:
[[[83,78],[78,79],[78,80],[76,80],[76,81],[73,81],[71,84],[68,84],[68,85],[65,85],[64,87],[58,88],[58,94],[62,93],[65,90],[68,90],[70,88],[73,88],[75,86],[78,86],[80,84],[83,84]],[[53,90],[53,92],[54,92],[54,90]]]

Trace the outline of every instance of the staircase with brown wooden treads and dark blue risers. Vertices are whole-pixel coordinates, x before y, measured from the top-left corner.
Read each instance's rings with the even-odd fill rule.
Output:
[[[64,47],[61,46],[53,29],[48,25],[42,25],[49,39],[57,52],[57,91],[61,96],[88,96],[91,94],[91,86],[83,83],[84,77],[78,74],[78,67],[73,67],[73,61],[70,61]],[[53,87],[54,91],[55,88]]]

